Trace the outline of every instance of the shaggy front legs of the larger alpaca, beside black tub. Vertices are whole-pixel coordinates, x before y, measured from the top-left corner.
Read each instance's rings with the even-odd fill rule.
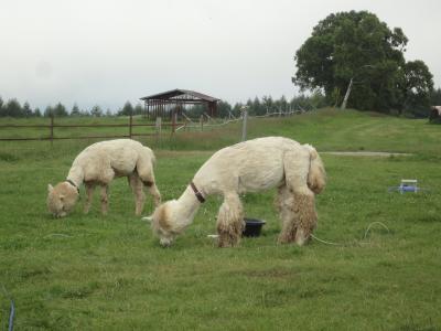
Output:
[[[217,214],[217,233],[219,235],[218,246],[235,246],[240,241],[244,229],[244,209],[237,194],[224,197]]]

